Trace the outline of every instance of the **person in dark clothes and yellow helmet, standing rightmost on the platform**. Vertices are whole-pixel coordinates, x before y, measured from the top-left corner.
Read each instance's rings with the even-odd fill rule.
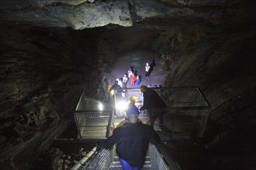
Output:
[[[143,93],[144,97],[144,104],[142,107],[140,107],[140,110],[146,110],[146,109],[152,109],[152,108],[164,108],[167,107],[163,100],[161,100],[161,97],[157,94],[155,90],[148,89],[146,86],[140,87],[140,92]],[[164,124],[164,118],[163,113],[152,113],[149,112],[150,116],[150,125],[154,126],[154,121],[159,118],[159,126],[160,128]]]

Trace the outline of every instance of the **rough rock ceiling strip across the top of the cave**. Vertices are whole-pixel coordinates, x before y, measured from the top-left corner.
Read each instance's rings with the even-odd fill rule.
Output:
[[[231,3],[232,2],[232,3]],[[178,22],[196,19],[220,24],[223,15],[235,15],[236,8],[223,6],[240,1],[227,0],[2,0],[2,22],[36,26],[86,29],[106,25],[134,26],[148,19]],[[233,11],[232,11],[233,10]],[[240,13],[239,13],[240,12]],[[243,15],[243,11],[239,11]],[[154,22],[154,20],[153,20]]]

